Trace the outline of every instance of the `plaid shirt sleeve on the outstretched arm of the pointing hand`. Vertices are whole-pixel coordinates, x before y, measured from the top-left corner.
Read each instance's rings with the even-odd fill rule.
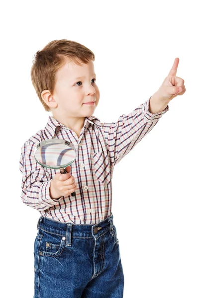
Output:
[[[155,114],[149,112],[150,98],[128,115],[121,115],[117,122],[103,124],[103,134],[113,165],[127,155],[169,110],[167,105],[164,111]]]

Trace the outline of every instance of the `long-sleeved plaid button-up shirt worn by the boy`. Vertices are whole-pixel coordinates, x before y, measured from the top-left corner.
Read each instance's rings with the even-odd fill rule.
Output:
[[[117,122],[101,123],[95,116],[85,117],[80,138],[76,133],[49,116],[43,130],[39,130],[21,148],[21,199],[37,209],[44,217],[62,223],[97,224],[111,213],[112,174],[114,166],[157,124],[164,111],[149,112],[149,100]],[[37,144],[57,138],[75,146],[76,159],[71,175],[77,183],[76,196],[50,197],[49,187],[59,169],[39,165],[34,158]]]

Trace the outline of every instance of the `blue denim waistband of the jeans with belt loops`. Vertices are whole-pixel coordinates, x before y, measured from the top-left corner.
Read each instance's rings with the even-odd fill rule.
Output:
[[[98,224],[69,224],[61,223],[46,217],[41,216],[38,220],[37,229],[42,233],[48,232],[51,234],[66,237],[66,243],[71,246],[71,237],[74,238],[94,238],[98,239],[108,230],[112,230],[113,215],[107,217]]]

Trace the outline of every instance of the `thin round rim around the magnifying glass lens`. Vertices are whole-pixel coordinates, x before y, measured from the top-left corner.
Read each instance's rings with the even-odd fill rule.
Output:
[[[76,153],[75,146],[72,143],[70,143],[70,142],[68,142],[66,140],[63,140],[63,139],[49,139],[49,140],[42,141],[39,144],[37,144],[36,150],[34,152],[34,158],[35,158],[36,162],[38,162],[41,166],[46,167],[46,168],[49,168],[49,169],[62,169],[62,168],[67,167],[67,166],[69,166],[69,165],[71,165],[73,163],[73,161],[76,158],[76,155],[75,155],[74,159],[70,163],[65,163],[65,164],[63,164],[61,166],[60,165],[48,166],[48,165],[46,165],[46,164],[41,163],[40,161],[38,161],[37,158],[35,157],[35,154],[36,154],[37,149],[40,148],[40,147],[42,147],[42,146],[48,145],[48,144],[63,144],[63,145],[67,145],[71,149],[73,149],[75,151],[75,153]]]

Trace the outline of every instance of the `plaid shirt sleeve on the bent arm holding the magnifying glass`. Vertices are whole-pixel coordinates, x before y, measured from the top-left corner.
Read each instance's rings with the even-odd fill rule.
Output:
[[[50,197],[52,179],[47,169],[36,162],[35,149],[36,144],[32,141],[25,142],[21,148],[19,160],[19,170],[22,174],[21,199],[27,206],[43,211],[59,204],[61,197],[58,199]]]

